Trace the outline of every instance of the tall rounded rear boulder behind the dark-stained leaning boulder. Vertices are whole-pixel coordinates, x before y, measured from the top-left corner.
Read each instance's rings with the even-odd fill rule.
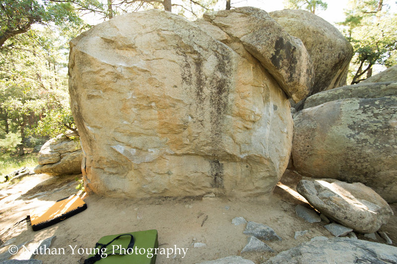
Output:
[[[353,48],[329,22],[305,10],[284,9],[269,15],[285,31],[302,40],[314,64],[315,80],[309,95],[346,85]]]

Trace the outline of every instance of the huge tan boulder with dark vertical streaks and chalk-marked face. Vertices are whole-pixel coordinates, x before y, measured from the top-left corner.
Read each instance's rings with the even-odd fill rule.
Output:
[[[290,104],[243,44],[150,10],[70,42],[69,94],[88,193],[270,193],[291,151]]]

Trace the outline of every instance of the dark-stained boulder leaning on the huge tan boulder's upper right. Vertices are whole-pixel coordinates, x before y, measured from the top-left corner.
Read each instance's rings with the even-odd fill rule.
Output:
[[[264,10],[239,7],[206,13],[203,19],[226,33],[225,44],[236,41],[277,80],[284,92],[299,102],[314,83],[313,64],[302,41],[290,36]],[[238,52],[237,48],[231,45]]]

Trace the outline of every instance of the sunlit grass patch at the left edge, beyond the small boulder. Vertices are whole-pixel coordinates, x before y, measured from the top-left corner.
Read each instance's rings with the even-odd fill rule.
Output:
[[[0,182],[4,181],[5,175],[18,170],[21,167],[36,167],[39,153],[27,153],[18,156],[13,153],[0,154]]]

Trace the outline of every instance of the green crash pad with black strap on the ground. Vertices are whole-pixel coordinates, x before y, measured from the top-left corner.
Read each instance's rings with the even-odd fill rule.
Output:
[[[157,230],[138,231],[131,234],[134,238],[134,245],[132,250],[128,249],[131,242],[131,236],[122,236],[110,245],[106,247],[105,254],[102,254],[102,258],[95,262],[95,264],[155,264],[156,255],[154,255],[154,249],[158,247],[158,236]],[[110,235],[102,237],[97,244],[106,245],[116,237],[123,235]],[[97,249],[101,248],[101,245],[96,246]],[[95,252],[97,253],[97,252]],[[100,252],[101,253],[101,252]],[[114,253],[114,255],[112,255]],[[119,254],[125,255],[119,255]],[[93,257],[95,254],[89,256]],[[105,255],[107,255],[105,257]],[[88,260],[88,259],[87,259]],[[86,261],[87,261],[86,260]],[[86,262],[84,262],[86,263]]]

